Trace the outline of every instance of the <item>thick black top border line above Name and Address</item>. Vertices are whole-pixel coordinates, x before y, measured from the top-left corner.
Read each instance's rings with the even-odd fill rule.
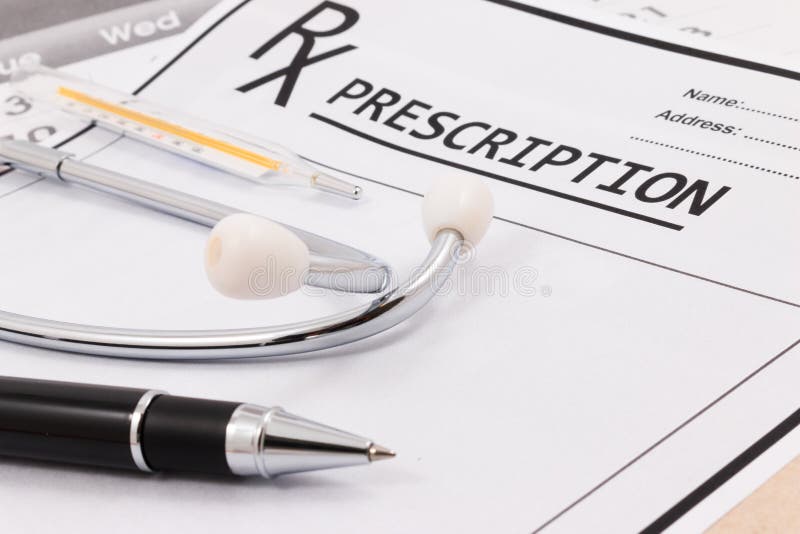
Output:
[[[514,0],[485,0],[485,1],[490,2],[492,4],[497,4],[499,6],[515,9],[517,11],[523,11],[531,15],[536,15],[538,17],[552,20],[554,22],[560,22],[562,24],[567,24],[569,26],[574,26],[576,28],[581,28],[583,30],[588,30],[591,32],[607,35],[609,37],[614,37],[616,39],[622,39],[625,41],[630,41],[633,43],[638,43],[641,45],[658,48],[660,50],[675,52],[676,54],[683,54],[685,56],[705,59],[707,61],[714,61],[715,63],[724,63],[725,65],[730,65],[732,67],[739,67],[742,69],[763,72],[764,74],[779,76],[781,78],[788,78],[790,80],[800,81],[800,72],[795,72],[793,70],[782,69],[780,67],[765,65],[764,63],[757,63],[755,61],[749,61],[747,59],[741,59],[733,56],[726,56],[725,54],[708,52],[706,50],[700,50],[699,48],[692,48],[690,46],[670,43],[668,41],[662,41],[660,39],[654,39],[652,37],[645,37],[644,35],[638,35],[636,33],[618,30],[616,28],[603,26],[602,24],[597,24],[594,22],[588,22],[575,17],[570,17],[568,15],[563,15],[561,13],[556,13],[554,11],[548,11],[540,7],[521,4],[519,2],[515,2]]]

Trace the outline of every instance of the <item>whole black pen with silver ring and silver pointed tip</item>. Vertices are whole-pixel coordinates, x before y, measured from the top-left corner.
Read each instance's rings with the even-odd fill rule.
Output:
[[[271,478],[368,464],[394,452],[281,408],[0,377],[0,455]]]

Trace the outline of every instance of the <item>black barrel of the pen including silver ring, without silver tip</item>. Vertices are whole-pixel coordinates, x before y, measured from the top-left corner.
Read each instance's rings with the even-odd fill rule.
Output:
[[[140,471],[230,475],[240,403],[0,377],[0,455]]]

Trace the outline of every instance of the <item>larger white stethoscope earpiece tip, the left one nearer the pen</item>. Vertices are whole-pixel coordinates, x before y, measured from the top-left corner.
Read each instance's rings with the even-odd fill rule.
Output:
[[[208,281],[226,297],[268,299],[301,286],[309,253],[306,244],[280,224],[237,213],[211,230],[205,264]]]

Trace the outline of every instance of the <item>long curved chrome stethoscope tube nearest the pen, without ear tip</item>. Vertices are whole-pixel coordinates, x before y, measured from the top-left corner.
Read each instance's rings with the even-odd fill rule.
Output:
[[[231,330],[145,330],[78,325],[0,311],[0,339],[48,349],[157,360],[231,359],[323,350],[378,334],[411,317],[442,288],[463,241],[442,230],[404,284],[342,313],[280,326]]]

